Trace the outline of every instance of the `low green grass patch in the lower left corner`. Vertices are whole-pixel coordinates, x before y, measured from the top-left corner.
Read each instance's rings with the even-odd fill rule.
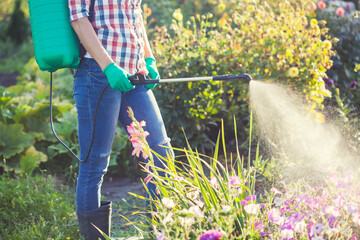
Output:
[[[2,175],[0,193],[0,238],[80,238],[73,193],[51,177]]]

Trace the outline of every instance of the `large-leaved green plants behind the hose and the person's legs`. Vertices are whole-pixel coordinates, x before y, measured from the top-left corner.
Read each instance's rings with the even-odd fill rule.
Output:
[[[61,79],[61,80],[59,80]],[[73,77],[68,69],[59,70],[53,80],[54,128],[62,141],[78,152],[77,117],[72,95]],[[23,68],[17,85],[0,88],[0,156],[5,171],[30,174],[36,166],[53,172],[73,173],[78,161],[53,136],[49,125],[49,73],[42,72],[32,58]],[[127,137],[117,128],[112,146],[110,167],[123,166],[129,161],[117,161],[120,154],[126,157]],[[71,168],[69,168],[71,167]],[[76,171],[75,171],[76,172]]]

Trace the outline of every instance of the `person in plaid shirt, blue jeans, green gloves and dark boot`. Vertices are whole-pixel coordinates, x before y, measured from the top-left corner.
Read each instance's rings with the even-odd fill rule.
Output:
[[[118,122],[126,129],[131,119],[130,106],[136,118],[146,121],[144,130],[150,147],[166,157],[170,139],[151,88],[155,85],[134,87],[128,77],[137,72],[148,72],[158,79],[159,72],[150,48],[142,19],[141,0],[96,0],[89,21],[90,0],[69,0],[73,29],[86,49],[80,67],[74,74],[74,98],[78,113],[80,158],[89,149],[94,111],[99,96],[107,84],[96,115],[94,144],[86,162],[80,163],[76,202],[80,234],[86,239],[101,235],[93,223],[110,234],[111,202],[100,201],[103,176],[107,171],[111,145]],[[161,166],[159,159],[155,164]],[[152,183],[147,185],[151,194]]]

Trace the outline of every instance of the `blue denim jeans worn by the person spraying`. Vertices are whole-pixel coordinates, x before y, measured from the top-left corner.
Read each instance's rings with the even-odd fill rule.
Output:
[[[105,74],[94,59],[84,58],[74,74],[74,98],[78,115],[78,135],[80,159],[85,159],[93,131],[96,104],[103,88],[108,84]],[[151,90],[136,86],[129,92],[119,92],[110,86],[106,89],[96,116],[94,143],[86,162],[80,163],[76,189],[78,211],[91,211],[100,207],[101,185],[107,172],[111,145],[115,136],[117,123],[126,130],[131,119],[126,110],[130,106],[138,121],[144,120],[145,131],[150,135],[147,141],[152,150],[166,157],[174,155],[160,114],[160,110]],[[163,164],[155,157],[155,165]],[[146,160],[145,160],[146,161]],[[155,185],[147,184],[154,197]]]

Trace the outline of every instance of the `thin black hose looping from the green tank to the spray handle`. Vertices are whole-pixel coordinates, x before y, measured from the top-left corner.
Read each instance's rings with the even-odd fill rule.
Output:
[[[54,129],[54,124],[53,124],[53,117],[52,117],[52,80],[53,80],[53,76],[52,76],[52,72],[50,73],[50,127],[51,127],[51,131],[53,132],[55,138],[77,159],[79,160],[80,162],[86,162],[86,160],[89,158],[90,156],[90,152],[91,152],[91,149],[92,149],[92,146],[93,146],[93,143],[94,143],[94,136],[95,136],[95,126],[96,126],[96,115],[97,115],[97,111],[98,111],[98,108],[99,108],[99,105],[100,105],[100,101],[101,101],[101,98],[102,96],[104,95],[105,93],[105,90],[109,87],[109,84],[107,84],[101,94],[100,94],[100,97],[99,97],[99,100],[97,101],[97,104],[96,104],[96,108],[95,108],[95,113],[94,113],[94,124],[93,124],[93,129],[92,129],[92,136],[91,136],[91,142],[90,142],[90,147],[89,147],[89,150],[88,150],[88,153],[86,155],[86,158],[84,160],[81,160],[68,146],[66,146],[66,144],[61,141],[61,139],[57,136],[56,132],[55,132],[55,129]]]

